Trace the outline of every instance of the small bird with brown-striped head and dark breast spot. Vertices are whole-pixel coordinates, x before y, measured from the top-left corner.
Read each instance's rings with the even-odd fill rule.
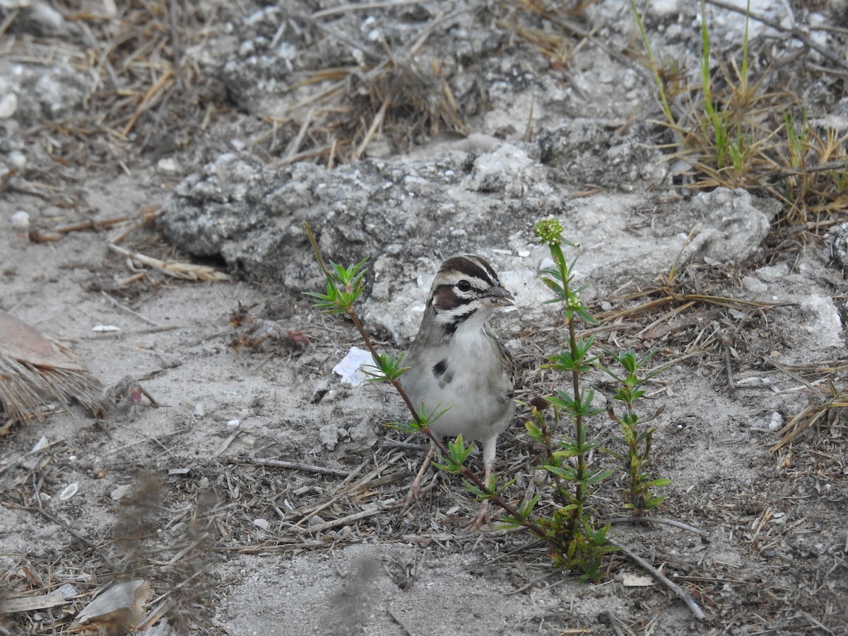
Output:
[[[432,282],[421,328],[404,359],[410,370],[401,378],[416,408],[424,404],[428,414],[448,409],[432,422],[432,432],[461,434],[483,444],[487,482],[498,436],[515,414],[516,377],[510,352],[488,332],[486,319],[496,307],[511,305],[512,299],[482,257],[466,254],[444,261]],[[418,492],[433,451],[431,445],[406,507]],[[485,522],[487,511],[488,502],[483,502],[472,527]]]

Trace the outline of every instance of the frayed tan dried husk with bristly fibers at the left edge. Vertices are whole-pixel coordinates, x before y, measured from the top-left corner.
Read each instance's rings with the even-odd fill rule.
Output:
[[[102,393],[100,382],[69,349],[0,310],[0,404],[12,421],[44,421],[49,400],[67,409],[76,399],[98,412]]]

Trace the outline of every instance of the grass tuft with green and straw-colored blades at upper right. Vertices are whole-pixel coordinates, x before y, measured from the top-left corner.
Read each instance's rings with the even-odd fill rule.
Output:
[[[782,219],[789,224],[805,223],[811,214],[848,209],[848,136],[828,127],[817,134],[808,125],[798,98],[783,87],[769,90],[767,80],[772,75],[765,71],[752,77],[750,2],[744,9],[739,64],[733,59],[719,63],[716,73],[706,2],[701,0],[698,80],[684,89],[679,86],[681,72],[669,75],[656,62],[635,0],[631,9],[665,116],[661,123],[675,137],[674,156],[688,164],[695,176],[690,187],[744,187],[778,198],[785,204]]]

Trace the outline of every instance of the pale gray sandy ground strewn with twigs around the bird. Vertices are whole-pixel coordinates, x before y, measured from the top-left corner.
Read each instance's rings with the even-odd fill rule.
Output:
[[[577,83],[592,61],[589,53],[576,59]],[[600,100],[611,86],[597,88]],[[529,109],[519,98],[494,95],[492,109],[475,120],[480,131],[494,134],[509,120],[505,103]],[[554,104],[536,105],[541,128],[563,115]],[[233,114],[202,152],[176,156],[199,170],[239,122],[255,126]],[[451,160],[473,163],[485,152],[462,151]],[[40,170],[48,167],[31,166],[0,198],[0,309],[73,349],[93,377],[113,387],[108,395],[117,404],[106,418],[53,404],[45,421],[16,425],[0,439],[3,594],[44,594],[64,583],[77,594],[52,609],[3,617],[7,633],[70,633],[73,616],[94,594],[125,579],[150,584],[143,611],[150,633],[162,634],[848,633],[844,408],[773,451],[780,426],[811,404],[826,404],[830,386],[845,386],[839,321],[848,286],[824,232],[793,241],[767,232],[745,259],[705,259],[710,243],[722,239],[701,235],[704,251],[686,263],[686,291],[779,306],[668,304],[600,336],[613,348],[657,347],[657,364],[673,363],[650,383],[644,409],[662,409],[653,422],[652,469],[672,486],[663,489],[659,514],[700,528],[708,540],[656,524],[616,523],[612,536],[692,594],[706,611],[700,622],[656,579],[634,583],[631,576],[645,572],[622,556],[610,558],[603,583],[581,585],[555,571],[544,548],[523,533],[497,523],[467,533],[463,525],[477,504],[458,479],[438,477],[401,516],[397,503],[425,444],[383,426],[404,417],[388,388],[353,388],[332,373],[360,344],[348,322],[321,315],[304,290],[280,280],[248,274],[187,282],[114,254],[109,241],[134,228],[122,247],[191,260],[166,243],[160,226],[140,226],[184,176],[164,174],[158,158],[133,159],[129,174],[114,165],[74,178],[63,172],[59,189],[42,187],[38,177],[47,173]],[[574,196],[579,188],[553,172],[494,194],[460,181],[451,187],[520,202],[532,181],[567,200],[570,230],[581,243],[579,273],[591,283],[586,298],[597,313],[632,306],[624,294],[656,285],[691,228],[710,226],[711,204],[683,198],[667,183],[661,192],[648,189],[638,170],[635,190],[600,188],[588,196]],[[38,243],[14,225],[19,210],[42,232],[127,220]],[[493,230],[470,247],[488,243],[486,255],[526,287],[527,313],[520,308],[492,321],[522,367],[521,399],[555,386],[550,373],[535,368],[562,333],[550,312],[531,313],[541,286],[527,282],[527,272],[544,260],[527,232],[531,221],[522,221],[512,243]],[[462,237],[454,235],[460,243]],[[434,268],[438,248],[418,249],[429,250]],[[298,258],[307,262],[308,250]],[[225,261],[202,263],[237,275]],[[423,301],[430,262],[404,265],[393,281],[404,290],[399,304]],[[391,324],[408,335],[416,331],[415,314],[399,313],[381,293],[377,285],[365,298],[367,324],[382,346],[400,349],[405,343],[393,340],[378,315],[395,316]],[[255,343],[251,329],[262,321],[309,344]],[[127,377],[129,384],[114,389]],[[602,374],[588,382],[609,396]],[[133,401],[126,386],[145,393]],[[611,440],[609,422],[592,426]],[[30,453],[42,438],[47,447]],[[533,488],[537,454],[520,415],[501,440],[496,466],[516,479],[511,497]],[[471,466],[479,469],[477,456]],[[72,484],[75,494],[63,499]],[[605,513],[620,510],[617,497],[610,486],[597,503]]]

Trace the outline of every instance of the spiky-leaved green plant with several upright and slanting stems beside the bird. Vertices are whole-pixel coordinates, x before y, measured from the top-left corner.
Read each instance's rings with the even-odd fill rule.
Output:
[[[602,566],[605,555],[618,548],[610,544],[608,533],[609,524],[603,524],[598,519],[597,510],[592,504],[592,497],[598,488],[615,472],[614,469],[599,469],[590,465],[589,455],[595,449],[600,449],[595,439],[589,438],[587,420],[602,412],[593,404],[594,391],[581,390],[580,380],[587,372],[598,365],[597,357],[592,354],[594,337],[581,338],[577,334],[577,323],[595,324],[593,316],[580,299],[583,287],[574,288],[573,266],[566,262],[562,246],[571,246],[562,238],[562,225],[558,220],[544,219],[535,226],[536,235],[550,248],[555,267],[542,271],[542,280],[554,292],[550,303],[564,304],[564,315],[568,324],[568,341],[566,349],[559,354],[551,355],[545,368],[561,371],[571,379],[567,390],[557,391],[545,399],[539,399],[530,407],[531,418],[526,422],[527,435],[544,446],[544,457],[538,467],[550,476],[550,497],[545,494],[535,494],[522,501],[520,505],[512,506],[502,496],[506,488],[513,483],[499,483],[497,477],[490,477],[488,483],[483,483],[480,477],[469,471],[465,462],[471,454],[471,444],[458,437],[444,445],[438,436],[430,431],[430,423],[441,413],[428,413],[422,408],[410,403],[399,378],[406,369],[403,366],[403,356],[393,356],[378,352],[374,349],[367,332],[362,327],[354,308],[355,301],[363,291],[363,276],[365,260],[357,265],[343,267],[331,263],[327,266],[321,257],[321,252],[312,236],[308,225],[304,224],[307,235],[315,250],[315,256],[321,265],[327,282],[326,293],[308,293],[317,301],[315,306],[330,313],[348,315],[357,330],[371,350],[374,360],[373,370],[368,371],[371,379],[379,382],[391,382],[410,410],[411,422],[388,424],[403,432],[420,432],[427,435],[436,446],[439,457],[434,466],[440,470],[459,474],[465,480],[466,490],[475,499],[489,500],[505,510],[503,521],[508,527],[523,527],[536,538],[546,544],[548,554],[553,564],[563,571],[575,572],[580,581],[600,581],[603,577]],[[626,375],[621,378],[622,388],[616,393],[615,399],[621,399],[625,404],[622,415],[623,440],[627,449],[615,455],[628,458],[632,470],[631,486],[625,499],[637,513],[656,507],[661,498],[650,493],[650,488],[665,485],[667,480],[650,479],[645,472],[650,462],[650,440],[652,430],[638,432],[639,416],[633,409],[635,400],[642,397],[642,384],[653,375],[639,378],[639,371],[650,360],[652,355],[643,360],[636,360],[635,354],[621,354],[617,360]],[[605,367],[602,367],[605,368]],[[605,368],[608,373],[614,373]],[[442,411],[444,412],[444,411]],[[563,422],[571,427],[563,426]],[[628,440],[633,439],[633,444]]]

